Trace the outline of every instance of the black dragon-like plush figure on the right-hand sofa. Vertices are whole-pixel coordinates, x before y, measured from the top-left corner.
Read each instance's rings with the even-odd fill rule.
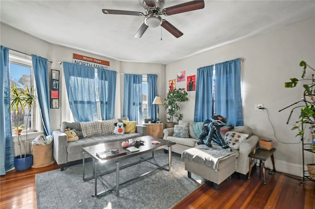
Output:
[[[202,125],[202,131],[198,138],[197,144],[206,144],[208,147],[212,147],[211,141],[219,144],[223,149],[230,148],[222,139],[220,130],[221,127],[226,126],[227,122],[221,115],[213,115],[211,120],[207,119]],[[233,129],[233,128],[232,128]],[[209,135],[206,143],[203,139]]]

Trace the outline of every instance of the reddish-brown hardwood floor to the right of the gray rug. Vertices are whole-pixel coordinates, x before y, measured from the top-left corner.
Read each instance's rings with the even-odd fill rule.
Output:
[[[264,184],[257,167],[251,179],[243,181],[233,175],[220,184],[219,191],[207,182],[173,209],[315,209],[315,182],[303,184],[302,178],[291,177],[278,172],[270,175],[266,170]]]

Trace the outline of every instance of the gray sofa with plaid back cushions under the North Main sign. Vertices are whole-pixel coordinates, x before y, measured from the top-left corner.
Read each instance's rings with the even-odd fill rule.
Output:
[[[127,120],[127,117],[106,121],[92,121],[92,122],[63,122],[60,130],[53,131],[54,136],[54,157],[56,162],[64,167],[82,162],[83,154],[82,147],[92,146],[96,144],[128,140],[146,135],[145,126],[136,126],[135,133],[113,134],[114,124]],[[63,133],[65,129],[76,130],[79,140],[68,142],[67,135]]]

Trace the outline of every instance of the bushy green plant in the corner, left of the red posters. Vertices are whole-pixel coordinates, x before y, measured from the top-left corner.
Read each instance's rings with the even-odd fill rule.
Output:
[[[188,93],[183,90],[174,89],[172,92],[168,92],[165,103],[163,104],[167,113],[167,120],[169,122],[165,123],[166,128],[174,127],[174,119],[178,121],[182,120],[183,114],[179,113],[180,106],[179,103],[188,101]]]

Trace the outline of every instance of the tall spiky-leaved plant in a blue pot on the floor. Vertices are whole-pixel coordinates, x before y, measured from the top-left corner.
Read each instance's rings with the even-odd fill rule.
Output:
[[[13,87],[11,87],[11,111],[15,111],[16,114],[16,126],[12,127],[15,129],[18,129],[23,125],[19,126],[19,118],[20,118],[20,114],[21,116],[24,116],[24,110],[27,107],[29,110],[29,114],[28,114],[28,118],[27,118],[27,127],[28,127],[28,120],[29,120],[29,116],[30,116],[30,109],[32,108],[34,102],[35,102],[35,95],[32,94],[32,87],[31,89],[29,89],[28,86],[26,86],[26,89],[23,88],[18,88],[16,87],[15,84],[13,84]],[[29,169],[32,166],[32,162],[33,162],[33,156],[32,155],[27,155],[27,144],[28,144],[28,136],[27,136],[27,129],[26,128],[26,143],[24,146],[24,150],[25,153],[24,155],[22,155],[22,145],[21,145],[21,140],[19,137],[19,134],[17,134],[17,139],[18,139],[18,145],[19,145],[19,150],[20,150],[20,155],[16,156],[14,158],[14,167],[16,170],[26,170]]]

